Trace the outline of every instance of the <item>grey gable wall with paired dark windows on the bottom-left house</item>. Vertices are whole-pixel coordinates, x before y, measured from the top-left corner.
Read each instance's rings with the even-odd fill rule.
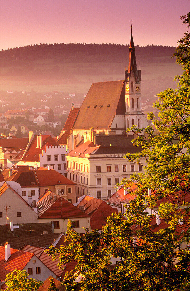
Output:
[[[33,263],[33,260],[36,260],[35,263]],[[36,267],[40,267],[40,274],[36,274]],[[43,262],[41,262],[41,260],[39,260],[39,258],[37,258],[36,255],[33,255],[33,257],[30,259],[30,261],[28,262],[28,264],[24,267],[23,270],[26,270],[26,272],[28,273],[28,268],[32,268],[32,275],[29,275],[28,278],[33,278],[37,281],[45,281],[47,280],[47,278],[51,275],[53,278],[56,278],[56,275],[48,268],[46,267],[46,265],[44,265]]]

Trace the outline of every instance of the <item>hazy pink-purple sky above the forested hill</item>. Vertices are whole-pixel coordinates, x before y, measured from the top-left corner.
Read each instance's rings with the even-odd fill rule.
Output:
[[[177,45],[190,0],[0,0],[0,49],[39,43]]]

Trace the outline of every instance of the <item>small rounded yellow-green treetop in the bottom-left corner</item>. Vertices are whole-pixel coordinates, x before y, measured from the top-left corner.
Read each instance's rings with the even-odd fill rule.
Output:
[[[8,287],[7,290],[9,291],[35,291],[43,285],[42,281],[28,278],[26,271],[20,271],[18,269],[15,269],[12,273],[8,273],[5,282]]]

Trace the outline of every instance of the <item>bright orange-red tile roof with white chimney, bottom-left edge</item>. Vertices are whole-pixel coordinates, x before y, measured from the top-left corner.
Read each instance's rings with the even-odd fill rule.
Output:
[[[5,280],[6,275],[14,269],[23,270],[28,264],[34,253],[10,249],[10,257],[5,262],[5,247],[0,246],[0,278]]]

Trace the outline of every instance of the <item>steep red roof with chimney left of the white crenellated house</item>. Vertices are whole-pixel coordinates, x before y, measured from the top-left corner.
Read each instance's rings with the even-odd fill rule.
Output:
[[[21,159],[23,162],[39,162],[39,155],[46,149],[48,145],[57,145],[56,141],[50,135],[42,135],[43,145],[41,148],[37,148],[37,136],[34,136],[30,147],[26,151],[25,155]]]

